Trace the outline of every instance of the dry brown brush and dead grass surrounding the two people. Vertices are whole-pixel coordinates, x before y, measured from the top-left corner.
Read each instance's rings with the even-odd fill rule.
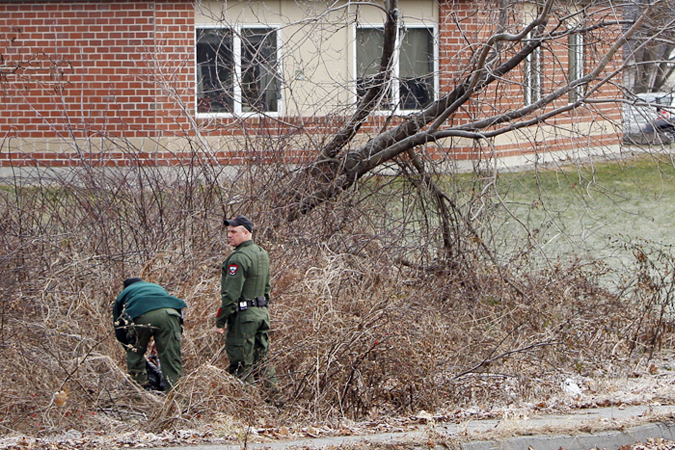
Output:
[[[339,429],[420,410],[543,408],[567,377],[599,383],[649,372],[653,352],[672,348],[663,314],[672,299],[662,294],[672,281],[655,275],[672,267],[663,254],[643,251],[639,282],[609,291],[598,282],[601,264],[532,269],[523,258],[497,268],[477,240],[461,238],[464,253],[449,264],[428,246],[433,226],[417,247],[405,227],[376,226],[387,206],[374,197],[272,228],[270,206],[254,195],[224,200],[243,195],[234,185],[148,175],[142,188],[120,173],[0,193],[2,435],[195,430],[245,441],[250,430],[291,424]],[[212,333],[229,252],[223,211],[260,223],[257,239],[272,256],[271,362],[283,410],[223,370],[223,341]],[[169,396],[125,375],[111,305],[132,275],[189,305],[186,376]]]

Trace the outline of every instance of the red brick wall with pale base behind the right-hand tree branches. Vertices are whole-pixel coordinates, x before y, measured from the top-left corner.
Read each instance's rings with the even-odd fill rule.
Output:
[[[490,1],[463,1],[443,0],[440,7],[440,28],[442,40],[442,89],[449,92],[465,81],[471,73],[467,69],[474,66],[470,63],[481,49],[480,44],[496,34],[500,23],[505,31],[516,34],[523,26],[536,17],[537,11],[533,4],[522,3],[514,8],[509,16],[501,17],[497,8],[498,2]],[[574,2],[560,2],[555,5],[553,18],[549,20],[549,29],[558,25],[556,19],[568,17],[579,8]],[[590,8],[587,15],[574,17],[569,22],[582,20],[584,17],[592,22],[603,19],[611,21],[612,11],[605,14],[596,14]],[[588,35],[586,42],[585,70],[591,70],[599,62],[598,58],[604,54],[609,46],[620,37],[620,30],[607,28]],[[519,48],[509,49],[508,42],[503,43],[504,57],[501,61],[492,64],[497,67],[508,57],[513,56]],[[547,95],[562,87],[568,82],[568,43],[567,37],[562,36],[557,41],[548,42],[541,48],[541,84],[542,95]],[[620,55],[610,62],[607,74],[621,64]],[[487,89],[477,95],[454,118],[459,123],[468,122],[485,117],[496,117],[500,114],[512,112],[525,106],[523,79],[524,65],[521,64],[512,72],[492,83]],[[595,84],[592,83],[591,86]],[[612,85],[599,88],[600,96],[605,98],[621,98],[619,89]],[[533,119],[553,109],[564,108],[569,103],[568,95],[555,100],[543,110],[536,110],[518,120]],[[517,155],[532,155],[538,159],[545,153],[559,152],[557,157],[573,158],[592,153],[591,147],[618,146],[620,140],[621,113],[610,102],[585,105],[573,111],[556,115],[541,125],[525,129],[518,129],[487,141],[481,146],[471,146],[466,140],[454,138],[452,142],[445,142],[444,148],[454,153],[459,159],[470,160],[505,158]],[[488,129],[489,131],[489,129]]]

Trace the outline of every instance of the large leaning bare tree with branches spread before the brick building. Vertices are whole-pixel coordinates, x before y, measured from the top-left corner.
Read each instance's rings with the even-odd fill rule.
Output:
[[[622,17],[622,4],[615,2],[576,6],[548,0],[537,5],[530,20],[523,21],[526,16],[520,3],[485,3],[481,18],[495,24],[492,34],[483,30],[483,40],[476,41],[472,40],[476,36],[463,33],[467,57],[455,72],[451,89],[419,112],[375,120],[377,132],[363,142],[357,139],[359,130],[364,124],[372,125],[374,115],[381,112],[380,101],[392,78],[396,30],[401,27],[396,0],[385,2],[384,42],[388,45],[382,47],[379,71],[351,115],[316,150],[313,160],[272,185],[269,197],[276,217],[294,221],[349,190],[359,179],[383,167],[391,169],[393,164],[398,167],[394,170],[417,178],[430,189],[442,223],[443,247],[447,255],[456,254],[453,247],[459,237],[452,229],[456,231],[457,222],[464,222],[466,234],[476,232],[466,216],[461,219],[451,195],[430,176],[432,166],[425,162],[429,154],[446,159],[443,149],[451,149],[460,139],[491,153],[500,136],[522,130],[536,134],[535,130],[551,126],[562,131],[565,127],[553,125],[560,117],[572,118],[572,128],[575,121],[606,118],[618,122],[616,105],[622,101],[620,76],[625,68],[620,60],[622,49],[645,29],[645,20],[660,3],[640,8],[640,14],[630,20]],[[573,47],[581,45],[574,40],[577,37],[583,39],[588,53],[576,54],[574,58],[580,59],[572,69],[572,55],[577,51]],[[647,41],[656,39],[651,36]],[[560,49],[570,56],[560,58]],[[536,77],[534,85],[527,80],[532,76]],[[524,104],[512,101],[523,92]],[[583,135],[580,131],[577,137]]]

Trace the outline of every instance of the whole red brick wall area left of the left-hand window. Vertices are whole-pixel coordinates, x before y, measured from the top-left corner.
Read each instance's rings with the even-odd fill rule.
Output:
[[[189,100],[190,1],[0,2],[3,138],[180,134]],[[7,69],[8,68],[8,69]],[[69,164],[33,152],[30,161]],[[3,165],[9,155],[3,152]]]

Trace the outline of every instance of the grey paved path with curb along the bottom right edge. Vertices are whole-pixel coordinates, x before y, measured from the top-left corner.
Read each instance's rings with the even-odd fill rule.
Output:
[[[623,445],[646,442],[649,438],[675,440],[675,422],[661,419],[649,423],[649,417],[673,417],[675,406],[631,406],[578,410],[574,414],[541,415],[504,420],[473,420],[462,424],[437,424],[436,437],[461,442],[462,450],[589,450],[592,448],[617,450]],[[674,419],[675,420],[675,419]],[[629,426],[629,423],[641,425]],[[607,430],[597,431],[592,430]],[[329,449],[340,445],[358,446],[359,443],[397,442],[413,444],[415,448],[429,449],[430,426],[398,433],[364,436],[336,436],[279,440],[267,443],[248,443],[247,449]],[[571,433],[570,430],[574,430]],[[500,436],[486,440],[486,436]],[[197,445],[172,447],[172,450],[241,450],[240,445]],[[448,449],[435,445],[435,449]]]

